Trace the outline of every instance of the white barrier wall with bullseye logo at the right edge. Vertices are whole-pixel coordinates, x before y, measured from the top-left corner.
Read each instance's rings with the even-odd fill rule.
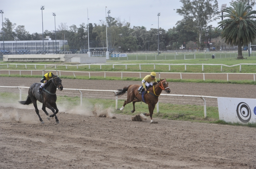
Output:
[[[218,97],[220,120],[226,122],[255,123],[256,99]]]

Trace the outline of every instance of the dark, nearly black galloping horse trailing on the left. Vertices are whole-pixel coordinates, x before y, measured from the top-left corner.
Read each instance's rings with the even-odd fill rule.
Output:
[[[61,79],[58,76],[53,76],[52,79],[48,80],[47,83],[48,84],[47,84],[47,86],[45,85],[46,87],[45,87],[45,89],[43,89],[44,92],[42,92],[41,95],[37,93],[37,90],[41,84],[33,83],[28,89],[28,97],[27,97],[26,101],[19,101],[19,102],[22,105],[29,105],[29,104],[33,103],[33,105],[36,109],[36,114],[39,117],[39,120],[41,121],[42,124],[44,124],[44,121],[40,117],[39,111],[37,108],[36,100],[38,100],[39,102],[43,103],[42,110],[47,115],[47,119],[51,120],[50,117],[55,116],[56,123],[58,124],[59,120],[58,120],[56,114],[59,112],[59,110],[56,105],[56,100],[57,100],[56,90],[58,88],[60,91],[62,91],[63,86],[61,84]],[[45,107],[51,109],[53,114],[49,115],[48,112],[45,110]]]

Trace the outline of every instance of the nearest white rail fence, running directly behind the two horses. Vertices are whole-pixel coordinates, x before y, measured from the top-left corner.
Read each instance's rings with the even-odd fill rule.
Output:
[[[25,88],[29,89],[29,87],[23,87],[23,86],[0,86],[0,88]],[[78,91],[80,92],[80,106],[83,106],[83,94],[81,91],[95,91],[95,92],[118,92],[116,90],[91,90],[91,89],[65,89],[63,90],[73,90],[73,91]],[[195,98],[201,98],[204,101],[204,118],[207,117],[206,115],[206,101],[204,98],[210,98],[210,99],[217,99],[217,97],[214,96],[197,96],[197,95],[180,95],[180,94],[160,94],[160,96],[176,96],[176,97],[195,97]],[[20,90],[20,101],[21,101],[21,90]],[[117,106],[118,103],[118,96],[116,96],[116,109],[118,108]],[[156,112],[159,113],[159,103],[157,102],[156,104]]]

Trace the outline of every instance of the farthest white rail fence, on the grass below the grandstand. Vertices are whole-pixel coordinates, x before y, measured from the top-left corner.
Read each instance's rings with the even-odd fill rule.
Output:
[[[9,68],[9,65],[16,65],[16,68],[18,68],[18,65],[25,65],[25,68],[27,69],[27,65],[34,65],[35,69],[36,69],[36,65],[41,65],[44,66],[44,69],[46,69],[46,66],[52,66],[54,67],[54,69],[57,69],[57,66],[65,66],[66,69],[68,69],[68,66],[76,66],[76,69],[78,69],[78,66],[89,66],[89,69],[91,69],[91,65],[98,65],[101,66],[103,65],[112,65],[113,69],[115,69],[115,65],[125,65],[125,69],[127,69],[127,65],[139,65],[139,68],[141,70],[141,65],[154,65],[154,70],[156,70],[156,65],[167,65],[169,66],[169,71],[171,70],[171,66],[179,66],[179,65],[184,65],[185,66],[185,70],[187,70],[187,65],[202,65],[202,71],[204,71],[204,65],[205,66],[220,66],[220,71],[222,71],[222,67],[226,66],[226,67],[234,67],[234,66],[240,66],[240,72],[242,70],[242,65],[256,65],[256,63],[239,63],[239,64],[235,64],[235,65],[225,65],[225,64],[211,64],[211,63],[180,63],[180,64],[169,64],[169,63],[131,63],[131,64],[119,64],[119,63],[102,63],[102,64],[76,64],[76,65],[69,65],[69,64],[20,64],[20,63],[4,63],[4,64],[0,64],[1,65],[7,65],[7,68]],[[52,68],[51,67],[51,68]]]

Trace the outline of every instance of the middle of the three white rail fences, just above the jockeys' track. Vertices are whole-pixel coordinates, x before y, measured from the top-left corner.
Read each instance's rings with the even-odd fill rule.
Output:
[[[31,71],[31,76],[33,75],[33,71],[42,71],[42,75],[44,75],[44,73],[46,72],[49,72],[49,71],[52,71],[52,72],[55,72],[56,71],[56,75],[57,76],[60,76],[61,77],[61,72],[62,72],[62,75],[63,75],[63,72],[68,72],[68,73],[72,73],[74,75],[74,77],[76,78],[76,75],[75,73],[79,73],[80,76],[81,76],[81,73],[85,76],[85,75],[88,75],[89,78],[91,78],[91,73],[104,73],[104,78],[106,78],[106,73],[110,73],[110,74],[113,74],[113,73],[120,73],[120,76],[121,76],[121,79],[123,79],[123,74],[124,73],[132,73],[133,75],[134,74],[138,74],[138,77],[141,78],[141,74],[145,74],[145,73],[150,73],[150,72],[111,72],[111,71],[92,71],[92,72],[88,72],[88,71],[64,71],[64,70],[0,70],[0,75],[3,74],[2,72],[3,71],[8,71],[8,74],[9,76],[11,75],[11,72],[12,71],[20,71],[20,76],[22,75],[21,72],[22,71]],[[168,74],[179,74],[180,75],[180,79],[182,79],[182,75],[183,74],[190,74],[190,75],[193,75],[193,74],[200,74],[202,75],[202,79],[205,81],[205,75],[211,75],[211,74],[225,74],[226,77],[227,77],[227,81],[229,80],[228,79],[228,75],[252,75],[253,76],[253,81],[255,81],[255,73],[181,73],[181,72],[156,72],[158,74],[158,77],[161,78],[161,74],[164,75],[168,75]],[[38,75],[38,74],[37,74]],[[99,75],[98,75],[99,76]],[[111,77],[111,76],[109,76]],[[116,76],[115,76],[116,77]],[[250,79],[249,79],[250,80]]]

